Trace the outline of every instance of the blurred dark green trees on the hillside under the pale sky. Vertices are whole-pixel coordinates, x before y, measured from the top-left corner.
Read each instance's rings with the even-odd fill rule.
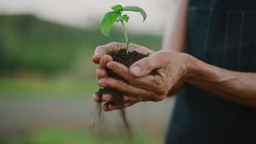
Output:
[[[157,50],[161,37],[129,34],[132,42]],[[81,56],[89,57],[98,45],[124,42],[122,31],[109,37],[100,30],[85,30],[42,21],[31,15],[0,16],[0,75],[19,70],[56,74],[67,71]],[[83,55],[81,55],[81,53]],[[91,61],[86,61],[92,63]]]

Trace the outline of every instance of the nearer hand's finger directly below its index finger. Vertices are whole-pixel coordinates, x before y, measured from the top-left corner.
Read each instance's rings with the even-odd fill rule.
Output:
[[[135,88],[134,86],[131,86],[128,83],[122,82],[121,80],[112,79],[110,77],[100,79],[98,81],[98,85],[105,88],[115,89],[119,92],[131,96],[140,95],[141,97],[147,97],[153,94],[151,91],[147,91],[141,88]]]

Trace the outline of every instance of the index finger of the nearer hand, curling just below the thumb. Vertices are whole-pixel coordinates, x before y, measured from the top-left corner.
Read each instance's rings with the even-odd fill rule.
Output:
[[[107,68],[111,69],[114,71],[114,73],[127,80],[129,83],[131,83],[131,85],[147,90],[157,89],[167,80],[164,74],[134,77],[129,73],[129,69],[125,65],[115,61],[108,62]]]

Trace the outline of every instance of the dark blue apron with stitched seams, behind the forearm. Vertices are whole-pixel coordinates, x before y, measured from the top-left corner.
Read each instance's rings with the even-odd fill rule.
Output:
[[[256,71],[256,0],[190,0],[189,53],[228,70]],[[167,144],[256,144],[256,109],[186,83]]]

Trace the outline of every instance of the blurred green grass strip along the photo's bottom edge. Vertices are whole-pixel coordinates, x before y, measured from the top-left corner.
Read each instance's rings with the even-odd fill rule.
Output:
[[[149,140],[152,139],[152,140]],[[150,138],[146,134],[136,133],[132,137],[134,144],[162,144],[161,137]],[[75,128],[34,128],[12,137],[6,144],[131,144],[127,138],[95,139],[86,130]]]

